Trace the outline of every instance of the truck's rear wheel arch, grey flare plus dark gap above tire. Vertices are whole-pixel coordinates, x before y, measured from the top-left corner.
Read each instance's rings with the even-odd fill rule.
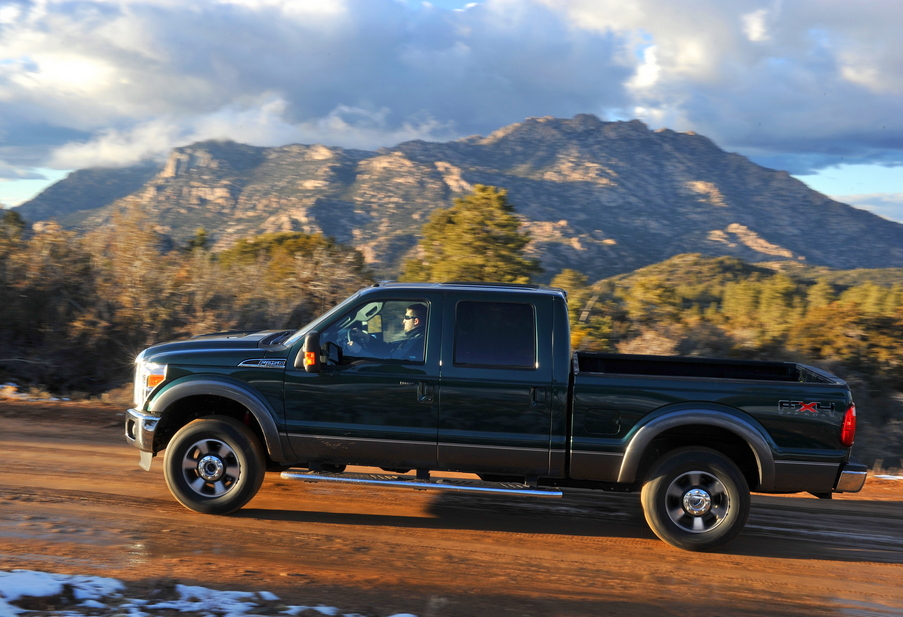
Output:
[[[684,446],[702,446],[733,460],[751,489],[774,486],[774,455],[754,420],[715,409],[679,409],[662,413],[633,435],[621,462],[619,483],[642,480],[655,458]],[[745,448],[738,448],[745,446]],[[661,450],[656,454],[657,451]]]

